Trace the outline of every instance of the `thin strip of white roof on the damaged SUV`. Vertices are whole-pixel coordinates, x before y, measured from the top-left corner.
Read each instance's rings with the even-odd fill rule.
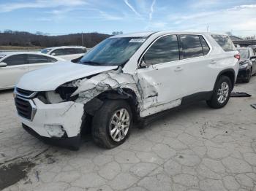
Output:
[[[148,31],[148,32],[138,32],[138,33],[130,33],[130,34],[118,34],[116,36],[111,36],[110,38],[123,38],[123,37],[148,37],[152,34],[215,34],[215,35],[225,35],[227,34],[217,34],[210,32],[190,32],[190,31]]]

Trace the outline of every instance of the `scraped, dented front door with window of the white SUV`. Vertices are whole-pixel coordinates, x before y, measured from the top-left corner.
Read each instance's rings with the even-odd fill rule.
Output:
[[[138,69],[143,96],[141,117],[181,104],[185,81],[184,64],[179,59],[176,35],[161,36],[146,50]]]

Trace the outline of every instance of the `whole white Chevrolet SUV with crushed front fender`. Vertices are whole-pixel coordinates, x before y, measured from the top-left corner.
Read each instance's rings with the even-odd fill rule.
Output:
[[[206,100],[227,104],[239,54],[225,35],[167,31],[111,36],[80,60],[25,74],[15,87],[18,116],[29,133],[78,149],[82,130],[113,148],[132,124]]]

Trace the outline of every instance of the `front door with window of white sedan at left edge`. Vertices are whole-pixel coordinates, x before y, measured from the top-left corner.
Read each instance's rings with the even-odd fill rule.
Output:
[[[14,87],[20,77],[29,71],[26,63],[26,55],[10,55],[2,62],[7,63],[7,66],[0,67],[0,88]]]

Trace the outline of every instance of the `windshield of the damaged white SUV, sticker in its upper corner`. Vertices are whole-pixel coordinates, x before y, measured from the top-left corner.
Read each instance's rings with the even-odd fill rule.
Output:
[[[94,66],[120,66],[145,42],[145,38],[109,38],[87,52],[80,63]]]

